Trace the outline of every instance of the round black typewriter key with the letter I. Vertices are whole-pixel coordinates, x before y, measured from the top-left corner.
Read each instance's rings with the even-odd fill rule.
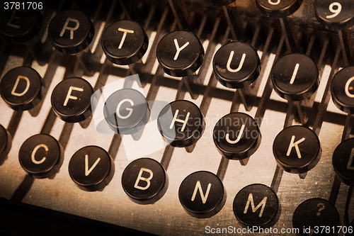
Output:
[[[275,92],[287,101],[309,99],[319,87],[319,69],[304,54],[292,53],[280,58],[271,72]]]

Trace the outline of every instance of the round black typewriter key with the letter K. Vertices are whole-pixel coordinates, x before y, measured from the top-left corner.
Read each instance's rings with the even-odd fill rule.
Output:
[[[278,166],[294,174],[314,168],[321,158],[321,152],[316,133],[300,125],[285,128],[273,142],[273,154]]]

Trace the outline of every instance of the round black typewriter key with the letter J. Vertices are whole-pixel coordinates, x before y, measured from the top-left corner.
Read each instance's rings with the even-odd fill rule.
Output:
[[[213,131],[217,150],[229,159],[245,159],[261,144],[256,120],[245,113],[230,113],[217,121]]]

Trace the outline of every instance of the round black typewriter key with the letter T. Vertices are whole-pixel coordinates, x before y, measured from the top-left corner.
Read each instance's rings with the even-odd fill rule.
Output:
[[[147,52],[149,39],[139,23],[122,20],[104,30],[101,43],[108,60],[115,64],[132,64]]]

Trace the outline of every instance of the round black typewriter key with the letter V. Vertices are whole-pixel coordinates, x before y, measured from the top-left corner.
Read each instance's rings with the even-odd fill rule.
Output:
[[[108,152],[98,146],[77,150],[69,162],[69,175],[85,191],[101,191],[114,174],[114,163]]]

